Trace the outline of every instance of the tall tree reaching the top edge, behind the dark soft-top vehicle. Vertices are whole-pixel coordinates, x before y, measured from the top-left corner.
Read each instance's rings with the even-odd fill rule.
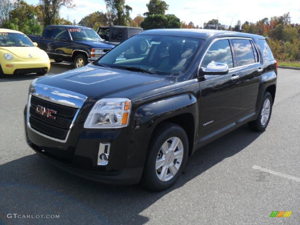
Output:
[[[104,0],[104,2],[107,8],[109,25],[130,25],[130,12],[132,11],[132,8],[129,5],[125,5],[125,0]]]

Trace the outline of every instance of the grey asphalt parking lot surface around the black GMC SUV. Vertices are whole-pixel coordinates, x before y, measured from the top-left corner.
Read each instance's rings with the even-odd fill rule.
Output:
[[[52,64],[50,72],[71,68]],[[208,144],[171,189],[155,193],[88,181],[39,158],[25,143],[22,116],[34,78],[0,78],[0,224],[300,224],[299,70],[278,69],[265,132],[243,126]]]

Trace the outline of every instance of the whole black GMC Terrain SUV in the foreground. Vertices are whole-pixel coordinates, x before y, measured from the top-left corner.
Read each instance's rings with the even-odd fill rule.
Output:
[[[143,41],[146,52],[128,51]],[[35,79],[26,141],[79,176],[163,190],[205,144],[244,124],[264,131],[276,83],[262,36],[147,30],[85,67]]]

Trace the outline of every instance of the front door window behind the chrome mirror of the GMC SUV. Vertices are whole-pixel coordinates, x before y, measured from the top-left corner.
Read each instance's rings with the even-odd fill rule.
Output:
[[[206,68],[207,65],[212,61],[226,63],[228,68],[233,67],[232,52],[229,40],[224,39],[214,42],[214,44],[212,44],[206,52],[202,60],[201,67]]]

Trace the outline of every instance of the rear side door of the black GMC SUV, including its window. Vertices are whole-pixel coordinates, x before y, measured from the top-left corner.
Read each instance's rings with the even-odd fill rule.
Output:
[[[259,63],[259,54],[250,38],[231,38],[235,53],[235,71],[239,73],[241,97],[237,122],[244,122],[255,115],[259,90],[259,76],[263,65]]]

